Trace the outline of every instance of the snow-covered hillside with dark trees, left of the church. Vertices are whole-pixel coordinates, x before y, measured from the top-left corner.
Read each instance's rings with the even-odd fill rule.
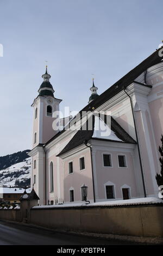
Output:
[[[16,163],[10,167],[0,170],[0,186],[30,186],[30,157],[23,162]]]

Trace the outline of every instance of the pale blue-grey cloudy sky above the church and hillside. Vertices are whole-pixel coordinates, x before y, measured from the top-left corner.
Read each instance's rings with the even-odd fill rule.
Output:
[[[159,0],[0,0],[0,156],[30,149],[45,60],[60,108],[79,111],[158,48]]]

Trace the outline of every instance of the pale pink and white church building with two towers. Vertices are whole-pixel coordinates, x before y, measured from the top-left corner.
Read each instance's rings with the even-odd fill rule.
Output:
[[[84,185],[90,202],[158,197],[161,59],[159,50],[155,51],[101,95],[93,82],[89,104],[76,117],[64,119],[55,114],[61,100],[54,96],[46,69],[32,104],[33,149],[29,153],[31,186],[39,204],[81,203]],[[105,113],[110,113],[109,123]],[[62,130],[57,129],[59,124]],[[103,136],[97,126],[108,129],[108,134]]]

